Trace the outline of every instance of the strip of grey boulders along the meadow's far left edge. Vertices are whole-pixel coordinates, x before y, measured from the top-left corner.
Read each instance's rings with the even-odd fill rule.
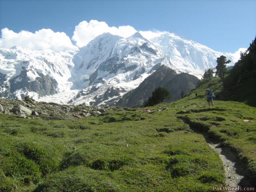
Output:
[[[0,115],[8,114],[18,118],[43,120],[72,120],[100,116],[109,110],[119,111],[122,108],[98,108],[86,105],[61,105],[53,102],[36,102],[28,96],[24,100],[0,98]]]

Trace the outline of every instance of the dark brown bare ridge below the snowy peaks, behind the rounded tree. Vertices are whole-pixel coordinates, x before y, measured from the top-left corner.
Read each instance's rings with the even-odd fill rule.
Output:
[[[118,106],[140,107],[151,96],[153,90],[157,87],[165,87],[175,101],[179,99],[180,93],[183,90],[189,93],[196,87],[198,78],[187,74],[176,72],[167,66],[162,65],[153,74],[148,76],[136,89],[125,94],[117,103]]]

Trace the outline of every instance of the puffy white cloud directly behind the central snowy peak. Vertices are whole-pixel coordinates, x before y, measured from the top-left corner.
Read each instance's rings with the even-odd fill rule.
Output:
[[[75,27],[72,40],[76,42],[78,47],[82,47],[87,45],[96,36],[106,32],[121,37],[129,37],[137,31],[132,26],[110,27],[106,22],[99,22],[97,20],[90,20],[89,23],[82,21]]]

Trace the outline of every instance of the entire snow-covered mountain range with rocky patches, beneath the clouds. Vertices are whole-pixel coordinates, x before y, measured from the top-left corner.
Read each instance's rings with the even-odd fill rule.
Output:
[[[234,65],[239,53],[216,52],[168,32],[150,40],[138,32],[128,38],[104,33],[78,52],[0,49],[0,97],[106,105],[161,65],[201,76],[222,54]]]

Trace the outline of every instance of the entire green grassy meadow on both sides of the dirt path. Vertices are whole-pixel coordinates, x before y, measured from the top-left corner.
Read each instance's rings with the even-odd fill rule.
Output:
[[[194,91],[168,110],[153,106],[152,114],[116,109],[71,121],[0,115],[0,191],[196,192],[224,184],[218,154],[178,116],[238,150],[253,173],[256,108],[216,101],[214,108],[224,111],[176,114],[207,109],[206,86],[195,90],[198,98]],[[218,81],[212,85],[219,87]]]

